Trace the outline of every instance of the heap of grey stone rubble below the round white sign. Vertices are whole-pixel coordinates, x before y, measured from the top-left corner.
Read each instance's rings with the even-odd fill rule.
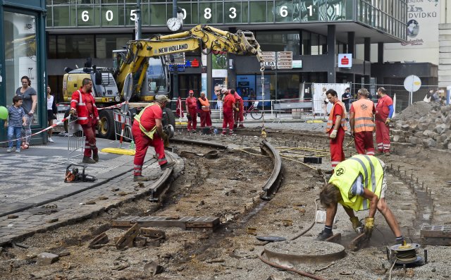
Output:
[[[393,118],[392,142],[451,150],[451,105],[415,102]]]

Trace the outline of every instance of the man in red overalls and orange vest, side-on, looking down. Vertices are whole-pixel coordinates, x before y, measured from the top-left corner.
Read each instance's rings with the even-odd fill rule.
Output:
[[[330,164],[332,164],[333,171],[337,164],[345,160],[343,140],[345,140],[345,131],[347,130],[346,109],[345,104],[338,99],[335,90],[326,91],[326,96],[333,104],[326,126],[326,133],[330,138]]]

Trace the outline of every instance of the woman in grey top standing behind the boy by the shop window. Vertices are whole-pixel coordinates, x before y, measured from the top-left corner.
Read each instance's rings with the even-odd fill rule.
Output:
[[[23,139],[22,149],[25,150],[30,147],[31,125],[35,119],[37,92],[31,87],[30,78],[27,76],[20,78],[20,83],[22,83],[22,87],[18,87],[16,95],[22,97],[22,108],[25,110],[25,118],[27,120],[20,133]]]

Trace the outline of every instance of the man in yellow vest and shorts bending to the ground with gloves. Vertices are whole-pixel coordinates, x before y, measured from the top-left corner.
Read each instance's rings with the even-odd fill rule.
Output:
[[[377,209],[395,234],[396,243],[402,243],[404,238],[400,226],[385,202],[386,191],[385,164],[377,157],[357,154],[340,162],[328,184],[319,193],[321,205],[326,207],[326,223],[316,239],[322,241],[333,236],[333,219],[340,203],[350,217],[354,231],[359,233],[359,229],[364,226],[364,232],[371,238]],[[366,209],[369,209],[369,214],[362,225],[354,211]]]

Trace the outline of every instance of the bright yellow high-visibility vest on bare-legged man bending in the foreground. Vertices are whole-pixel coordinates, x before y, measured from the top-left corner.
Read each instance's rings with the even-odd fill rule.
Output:
[[[329,179],[329,183],[340,190],[342,200],[339,203],[355,211],[369,209],[371,202],[360,195],[352,195],[350,193],[352,184],[359,175],[363,177],[364,188],[381,197],[384,173],[382,164],[377,157],[366,154],[357,154],[354,157],[350,157],[335,166],[335,171]]]

